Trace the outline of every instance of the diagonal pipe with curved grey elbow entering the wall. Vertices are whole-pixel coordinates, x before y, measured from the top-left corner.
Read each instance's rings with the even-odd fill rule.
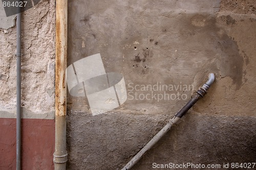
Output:
[[[138,154],[136,154],[132,160],[130,160],[123,168],[122,170],[129,170],[135,165],[140,158],[145,154],[146,151],[150,150],[154,144],[156,144],[172,127],[173,124],[178,122],[178,120],[186,114],[186,112],[193,106],[195,103],[201,99],[209,89],[209,86],[214,82],[215,77],[214,74],[209,75],[209,80],[207,81],[209,85],[204,84],[202,87],[199,88],[197,91],[197,94],[192,98],[172,119],[169,120],[169,122],[163,127],[161,131],[159,131]],[[206,85],[206,86],[205,86]]]

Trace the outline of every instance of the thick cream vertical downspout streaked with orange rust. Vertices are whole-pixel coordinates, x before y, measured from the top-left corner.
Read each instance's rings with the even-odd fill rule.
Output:
[[[56,0],[56,65],[55,65],[55,170],[65,170],[68,160],[66,151],[67,114],[67,38],[68,0]]]

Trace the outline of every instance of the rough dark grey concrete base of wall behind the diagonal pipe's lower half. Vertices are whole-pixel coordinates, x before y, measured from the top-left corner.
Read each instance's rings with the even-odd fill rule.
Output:
[[[69,112],[67,169],[121,169],[169,115]],[[189,112],[132,169],[152,164],[255,162],[256,117]]]

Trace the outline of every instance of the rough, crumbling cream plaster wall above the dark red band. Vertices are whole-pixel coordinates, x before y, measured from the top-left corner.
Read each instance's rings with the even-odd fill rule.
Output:
[[[16,112],[16,27],[15,16],[6,17],[2,3],[0,8],[0,117],[8,118],[15,117]],[[24,118],[53,118],[54,1],[41,1],[22,13],[22,55]]]

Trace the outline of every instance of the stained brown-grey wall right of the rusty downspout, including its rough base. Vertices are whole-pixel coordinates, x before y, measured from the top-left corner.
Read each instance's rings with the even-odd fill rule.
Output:
[[[121,169],[208,72],[216,82],[205,98],[133,169],[254,161],[255,14],[254,1],[69,1],[68,65],[100,53],[106,72],[123,75],[127,100],[92,116],[87,98],[69,95],[68,169]]]

